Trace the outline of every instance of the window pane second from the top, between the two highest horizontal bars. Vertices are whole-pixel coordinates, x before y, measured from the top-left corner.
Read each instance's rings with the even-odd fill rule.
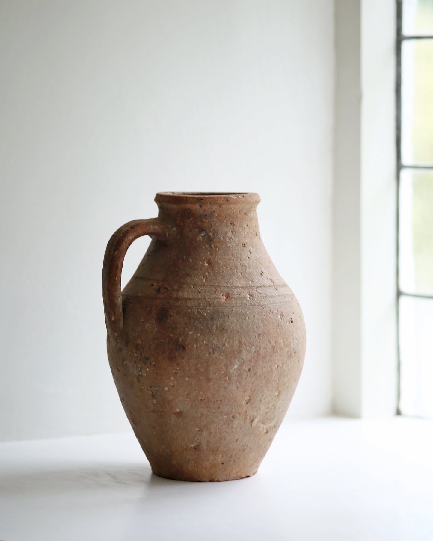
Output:
[[[433,0],[432,0],[433,1]],[[433,163],[433,39],[402,43],[402,161]]]

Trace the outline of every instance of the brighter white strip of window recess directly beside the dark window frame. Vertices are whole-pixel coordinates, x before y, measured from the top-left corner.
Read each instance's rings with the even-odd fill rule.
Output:
[[[396,2],[361,11],[362,416],[397,413]]]

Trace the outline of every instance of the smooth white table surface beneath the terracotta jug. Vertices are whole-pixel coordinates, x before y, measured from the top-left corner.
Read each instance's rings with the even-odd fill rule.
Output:
[[[0,539],[433,540],[433,422],[287,420],[225,483],[154,476],[133,434],[3,443]]]

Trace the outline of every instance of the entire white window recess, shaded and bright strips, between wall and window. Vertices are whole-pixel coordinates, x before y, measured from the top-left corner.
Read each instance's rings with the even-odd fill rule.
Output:
[[[336,0],[333,410],[397,410],[395,0]]]

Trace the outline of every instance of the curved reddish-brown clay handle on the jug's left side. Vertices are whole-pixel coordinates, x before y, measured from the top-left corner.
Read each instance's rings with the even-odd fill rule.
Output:
[[[102,267],[102,298],[107,332],[114,338],[123,327],[121,276],[127,249],[143,235],[162,240],[167,239],[168,232],[168,227],[156,218],[133,220],[119,227],[108,241]]]

